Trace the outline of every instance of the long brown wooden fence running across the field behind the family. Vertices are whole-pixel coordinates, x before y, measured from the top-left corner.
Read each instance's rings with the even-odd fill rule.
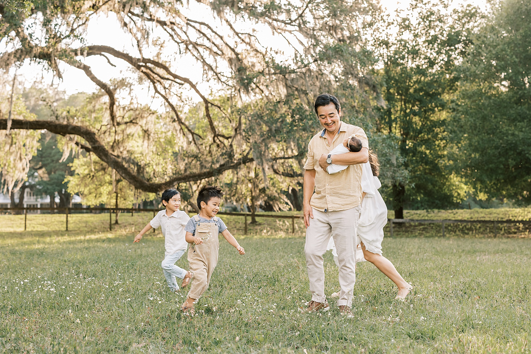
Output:
[[[134,212],[153,212],[153,217],[155,217],[155,214],[162,210],[162,209],[148,209],[148,208],[100,208],[98,206],[95,206],[93,208],[37,208],[37,207],[27,207],[27,208],[0,208],[1,211],[24,211],[24,231],[26,230],[26,224],[27,224],[27,218],[28,218],[28,210],[43,210],[43,211],[64,211],[65,217],[66,217],[66,231],[68,231],[68,214],[70,214],[71,211],[109,211],[109,230],[113,230],[113,223],[112,223],[112,215],[113,213],[117,212],[130,212],[131,216],[133,216]],[[233,215],[238,217],[244,217],[244,224],[245,224],[245,231],[244,233],[247,234],[247,217],[252,217],[252,213],[239,213],[239,212],[218,212],[219,215]],[[291,219],[292,220],[292,234],[295,233],[295,219],[303,219],[303,215],[270,215],[270,214],[254,214],[256,218],[275,218],[275,219]],[[390,236],[393,236],[393,225],[397,223],[440,223],[441,224],[441,230],[442,230],[442,236],[444,237],[444,225],[446,224],[455,224],[455,223],[490,223],[494,226],[494,237],[497,236],[497,230],[496,226],[498,226],[499,223],[525,223],[529,224],[531,223],[531,220],[451,220],[451,219],[444,219],[444,220],[417,220],[417,219],[387,219],[390,226]],[[155,229],[153,229],[153,232],[155,232]]]

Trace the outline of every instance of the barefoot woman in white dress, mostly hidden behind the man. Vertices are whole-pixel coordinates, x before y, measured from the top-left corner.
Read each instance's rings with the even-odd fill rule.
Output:
[[[401,277],[395,266],[382,255],[383,227],[387,224],[387,206],[378,192],[378,188],[382,184],[378,179],[380,164],[376,154],[370,151],[369,162],[364,163],[362,167],[362,208],[357,229],[357,236],[361,239],[361,243],[357,248],[356,262],[368,261],[374,264],[397,285],[396,299],[403,300],[412,286]],[[336,247],[332,237],[327,249],[332,249],[337,264]],[[363,256],[359,251],[363,251]]]

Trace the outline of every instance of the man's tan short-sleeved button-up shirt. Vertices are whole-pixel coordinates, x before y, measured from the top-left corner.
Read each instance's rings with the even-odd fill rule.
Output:
[[[322,154],[329,154],[333,148],[342,144],[352,134],[362,141],[362,146],[369,149],[369,140],[365,131],[355,125],[341,122],[338,134],[328,144],[324,135],[325,129],[315,134],[308,144],[308,159],[304,169],[315,169],[315,193],[310,205],[320,211],[347,210],[358,206],[362,202],[362,165],[349,165],[337,174],[329,175],[319,166]]]

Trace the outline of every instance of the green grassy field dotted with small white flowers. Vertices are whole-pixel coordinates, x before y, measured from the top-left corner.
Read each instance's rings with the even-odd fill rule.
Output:
[[[132,244],[149,214],[122,214],[113,232],[108,214],[85,216],[71,215],[68,232],[64,215],[30,215],[26,232],[18,215],[0,217],[0,353],[531,352],[529,239],[386,238],[384,255],[415,289],[394,300],[391,281],[359,264],[356,317],[346,320],[336,308],[298,313],[310,299],[304,239],[264,234],[262,223],[256,236],[235,232],[244,256],[221,241],[202,312],[190,319],[178,310],[186,292],[165,284],[160,231]],[[330,253],[325,271],[330,296]]]

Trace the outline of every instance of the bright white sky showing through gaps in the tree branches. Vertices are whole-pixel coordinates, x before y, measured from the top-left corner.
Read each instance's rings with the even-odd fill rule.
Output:
[[[455,5],[457,7],[461,4],[466,3],[478,5],[481,7],[485,6],[485,0],[453,0],[452,5]],[[397,9],[406,8],[409,4],[409,1],[381,0],[381,4],[383,5],[383,7],[387,8],[387,11],[389,13],[394,13]],[[204,13],[204,11],[207,10],[206,8],[201,8],[201,6],[204,6],[202,4],[190,2],[190,5],[194,6],[191,11],[193,13],[193,16],[191,17],[194,19],[198,19],[198,13]],[[99,16],[97,18],[92,19],[89,22],[89,28],[87,33],[87,40],[89,44],[113,46],[117,49],[123,49],[124,51],[132,55],[138,55],[138,52],[132,45],[131,37],[129,36],[129,34],[126,34],[121,28],[119,28],[116,16],[114,16],[114,14],[112,13],[110,13],[108,17]],[[278,48],[278,39],[273,37],[271,31],[268,31],[267,28],[264,27],[264,30],[259,33],[259,36],[260,41],[264,43],[264,45],[277,46]],[[287,45],[284,45],[286,46],[286,51],[289,51]],[[144,53],[144,55],[146,54]],[[118,59],[112,59],[112,61],[117,67],[110,66],[107,63],[106,59],[102,57],[86,58],[85,64],[89,65],[92,68],[93,73],[95,73],[95,75],[104,82],[108,82],[113,78],[116,79],[118,77],[133,75],[132,73],[127,71],[128,66],[125,65],[124,62],[121,62]],[[175,62],[175,64],[177,70],[181,70],[181,72],[177,71],[177,73],[182,74],[183,76],[187,76],[193,82],[198,83],[200,89],[209,89],[209,84],[207,82],[202,82],[202,70],[200,65],[196,64],[191,58],[179,58],[179,61]],[[24,64],[18,70],[18,77],[19,80],[23,81],[27,87],[39,82],[43,82],[46,84],[54,83],[54,85],[56,85],[58,89],[66,91],[67,94],[73,94],[77,92],[94,92],[98,89],[96,84],[90,81],[81,70],[67,65],[61,65],[59,67],[63,72],[62,80],[54,78],[51,73],[43,72],[41,70],[41,67],[29,63]],[[10,70],[11,77],[13,73],[14,69],[12,68],[12,70]],[[145,90],[147,90],[147,86],[139,87],[136,90],[136,94],[139,97],[149,97],[150,95]],[[190,97],[196,100],[197,98],[194,98],[193,96],[194,94],[191,94]],[[162,102],[149,103],[152,107],[160,107]]]

